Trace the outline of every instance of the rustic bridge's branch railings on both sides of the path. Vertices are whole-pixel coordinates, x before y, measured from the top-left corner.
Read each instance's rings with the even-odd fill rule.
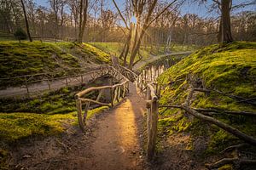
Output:
[[[78,110],[79,127],[83,132],[86,131],[86,117],[90,110],[90,105],[106,105],[114,107],[125,98],[129,93],[129,83],[133,83],[139,89],[140,94],[143,94],[145,100],[144,107],[147,109],[147,157],[148,160],[152,160],[154,157],[155,142],[157,136],[157,121],[158,121],[158,101],[160,98],[160,86],[155,83],[155,79],[160,76],[160,73],[164,71],[162,66],[153,69],[149,67],[136,74],[135,72],[121,66],[121,65],[102,65],[102,68],[98,70],[98,74],[108,74],[117,80],[118,83],[102,86],[87,88],[84,91],[75,95],[76,105]],[[85,98],[86,94],[94,92],[97,94],[95,99]],[[107,102],[104,99],[104,94],[110,96],[110,100]],[[135,94],[132,94],[135,95]]]

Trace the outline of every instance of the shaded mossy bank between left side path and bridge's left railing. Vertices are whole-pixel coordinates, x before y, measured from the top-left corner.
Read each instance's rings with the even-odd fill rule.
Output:
[[[76,111],[74,95],[85,87],[61,88],[45,93],[34,99],[0,99],[0,111],[4,112],[33,112],[44,114],[66,114]],[[96,94],[88,94],[94,97]]]

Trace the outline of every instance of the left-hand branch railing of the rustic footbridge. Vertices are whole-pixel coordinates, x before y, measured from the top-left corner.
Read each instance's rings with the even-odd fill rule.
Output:
[[[117,71],[111,65],[104,65],[102,66],[102,68],[108,71],[108,74],[110,76],[118,79],[119,81],[123,80],[123,82],[119,82],[118,84],[114,84],[111,86],[87,88],[84,91],[81,91],[75,95],[76,106],[78,110],[79,127],[83,132],[85,131],[87,112],[90,110],[91,104],[106,105],[109,107],[113,107],[114,105],[119,103],[121,99],[124,99],[127,93],[129,93],[129,82],[130,82],[129,79],[124,77],[119,71]],[[110,96],[109,103],[106,103],[106,101],[101,101],[104,90],[105,90],[105,93],[107,92]],[[84,95],[89,94],[93,91],[99,92],[96,99],[83,98]],[[83,105],[85,105],[84,114],[83,114]]]

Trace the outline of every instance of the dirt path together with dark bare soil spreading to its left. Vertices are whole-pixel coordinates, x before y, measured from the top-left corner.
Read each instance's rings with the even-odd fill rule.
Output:
[[[100,114],[86,134],[71,127],[61,137],[29,141],[12,150],[12,169],[147,169],[142,138],[145,102],[133,84],[127,98]]]

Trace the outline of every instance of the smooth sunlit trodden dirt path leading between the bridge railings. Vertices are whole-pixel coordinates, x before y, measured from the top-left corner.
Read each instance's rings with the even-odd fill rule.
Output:
[[[96,141],[92,144],[96,155],[94,169],[143,169],[139,136],[145,103],[134,85],[130,89],[125,102],[98,122]]]

